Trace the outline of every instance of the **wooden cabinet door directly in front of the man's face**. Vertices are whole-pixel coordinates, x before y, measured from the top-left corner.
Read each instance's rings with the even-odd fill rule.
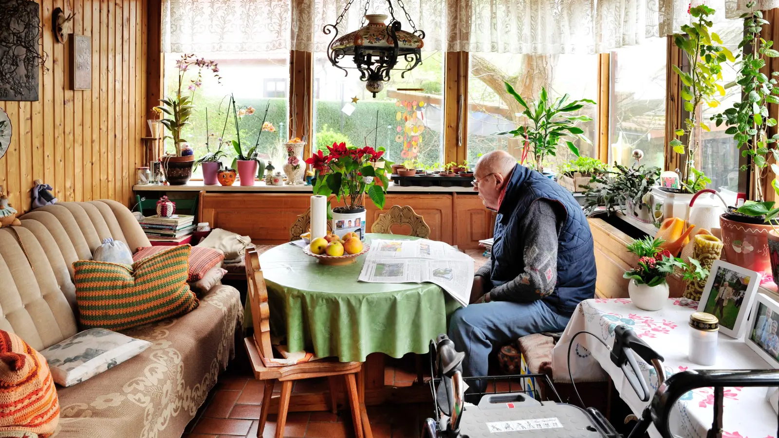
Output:
[[[478,195],[454,194],[454,245],[478,249],[479,241],[492,237],[495,213],[487,210]]]

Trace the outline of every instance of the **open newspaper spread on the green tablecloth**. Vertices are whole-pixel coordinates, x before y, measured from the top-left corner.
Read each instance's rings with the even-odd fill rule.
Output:
[[[359,281],[438,284],[465,307],[471,298],[474,260],[444,242],[376,239],[371,242]]]

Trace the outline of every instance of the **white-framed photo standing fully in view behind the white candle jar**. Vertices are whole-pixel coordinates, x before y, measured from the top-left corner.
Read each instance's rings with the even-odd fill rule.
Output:
[[[698,312],[717,316],[720,332],[738,339],[746,332],[749,310],[759,286],[759,272],[715,260],[700,296]]]

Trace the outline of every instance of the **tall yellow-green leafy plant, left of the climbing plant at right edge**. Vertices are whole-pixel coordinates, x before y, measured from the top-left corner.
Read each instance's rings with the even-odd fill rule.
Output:
[[[698,129],[710,131],[710,128],[698,119],[698,108],[701,104],[707,104],[710,108],[717,107],[720,103],[715,96],[724,96],[725,89],[717,81],[722,80],[721,64],[727,61],[735,62],[735,57],[722,45],[722,40],[711,31],[709,16],[714,15],[714,9],[707,5],[699,5],[689,9],[689,15],[693,17],[693,23],[682,26],[684,34],[674,35],[674,44],[682,49],[689,62],[689,72],[683,72],[677,65],[671,68],[682,80],[682,99],[684,108],[689,116],[684,121],[684,128],[675,129],[675,136],[687,136],[687,144],[681,140],[671,140],[671,147],[677,154],[686,156],[682,166],[682,182],[691,178],[693,159],[700,147]],[[717,124],[719,125],[719,124]],[[700,178],[698,182],[702,182]],[[689,185],[682,184],[689,193],[697,190]],[[705,189],[705,185],[702,187]]]

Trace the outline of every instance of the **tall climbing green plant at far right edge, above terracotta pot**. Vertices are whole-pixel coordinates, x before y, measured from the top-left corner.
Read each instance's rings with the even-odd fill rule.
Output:
[[[717,126],[723,122],[728,126],[725,133],[733,136],[738,142],[738,149],[744,157],[750,158],[752,166],[751,180],[755,186],[757,201],[765,200],[763,193],[763,178],[767,172],[768,155],[774,156],[779,161],[779,151],[776,144],[779,134],[767,136],[767,128],[777,124],[775,118],[768,114],[768,104],[779,104],[779,89],[776,88],[779,72],[770,72],[769,75],[760,72],[766,65],[767,58],[776,58],[779,51],[772,48],[774,41],[766,41],[760,37],[763,24],[768,24],[763,19],[763,12],[755,9],[755,2],[747,3],[750,12],[741,16],[746,26],[746,34],[738,48],[746,48],[746,53],[741,61],[736,63],[738,70],[736,83],[742,87],[742,95],[746,97],[742,101],[735,102],[732,108],[726,109],[721,114],[711,117]],[[772,145],[774,145],[772,147]],[[742,170],[746,170],[746,164]]]

